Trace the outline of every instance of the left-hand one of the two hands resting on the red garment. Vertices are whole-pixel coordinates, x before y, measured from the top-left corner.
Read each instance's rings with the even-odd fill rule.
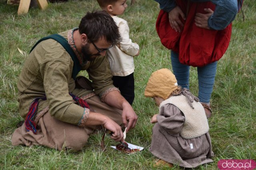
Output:
[[[184,24],[182,21],[180,21],[179,16],[183,18],[183,20],[186,20],[185,14],[182,12],[179,6],[176,6],[173,8],[169,13],[169,22],[171,27],[177,32],[180,32],[181,29],[183,28]]]

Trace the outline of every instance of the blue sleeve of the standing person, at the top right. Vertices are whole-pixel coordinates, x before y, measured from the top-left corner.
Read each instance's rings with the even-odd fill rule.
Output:
[[[211,0],[216,5],[214,13],[208,19],[208,27],[214,30],[225,29],[237,14],[237,0]]]

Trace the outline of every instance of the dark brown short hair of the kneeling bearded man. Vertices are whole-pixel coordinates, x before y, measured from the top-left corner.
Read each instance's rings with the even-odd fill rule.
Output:
[[[105,11],[87,12],[79,24],[79,33],[86,34],[93,42],[104,37],[111,45],[117,45],[122,40],[118,26]]]

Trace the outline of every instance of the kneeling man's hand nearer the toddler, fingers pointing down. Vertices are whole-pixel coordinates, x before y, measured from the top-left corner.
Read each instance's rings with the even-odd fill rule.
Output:
[[[127,127],[126,132],[135,127],[137,119],[138,116],[132,109],[132,106],[128,102],[123,104],[122,121],[124,126]]]

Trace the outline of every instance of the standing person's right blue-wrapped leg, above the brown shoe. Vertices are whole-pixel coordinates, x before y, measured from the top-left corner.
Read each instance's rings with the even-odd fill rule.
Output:
[[[217,61],[197,68],[198,98],[200,102],[209,104],[217,70]]]

